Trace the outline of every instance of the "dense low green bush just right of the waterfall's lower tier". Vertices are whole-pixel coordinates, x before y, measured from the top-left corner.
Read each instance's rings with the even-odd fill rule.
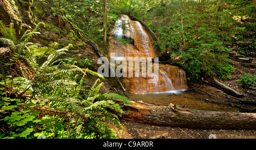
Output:
[[[204,76],[218,76],[230,79],[234,68],[229,65],[228,55],[220,43],[200,44],[197,49],[189,49],[181,54],[180,65],[187,71],[189,78],[200,80]]]

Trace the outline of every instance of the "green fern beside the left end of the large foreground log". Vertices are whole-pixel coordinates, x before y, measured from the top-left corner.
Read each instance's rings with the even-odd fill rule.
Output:
[[[93,125],[90,124],[90,126],[97,128],[97,130],[103,132],[104,135],[110,136],[113,131],[106,123],[110,123],[118,127],[119,130],[122,130],[122,126],[118,119],[118,116],[121,116],[122,114],[122,109],[120,105],[115,103],[115,101],[130,104],[130,100],[113,93],[105,93],[104,95],[101,95],[99,91],[102,85],[103,83],[100,83],[100,79],[96,80],[90,88],[88,96],[81,104],[85,106],[83,114],[88,121],[93,122]],[[117,115],[112,112],[116,112]]]

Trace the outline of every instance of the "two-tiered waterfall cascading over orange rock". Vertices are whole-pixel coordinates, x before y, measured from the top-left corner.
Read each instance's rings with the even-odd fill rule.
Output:
[[[121,15],[115,22],[111,34],[108,54],[115,53],[116,60],[128,60],[129,57],[157,57],[151,36],[141,23],[131,20],[129,16]],[[148,79],[156,80],[157,77],[159,77],[157,83],[148,83]],[[123,77],[122,82],[130,93],[161,93],[187,88],[183,69],[161,64],[159,64],[159,74],[153,73],[151,78],[143,77],[141,73],[139,77]]]

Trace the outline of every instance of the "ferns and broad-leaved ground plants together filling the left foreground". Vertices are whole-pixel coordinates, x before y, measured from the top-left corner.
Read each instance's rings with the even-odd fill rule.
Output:
[[[6,123],[1,138],[118,138],[109,127],[111,124],[122,130],[118,119],[122,109],[115,101],[129,100],[114,94],[102,95],[103,83],[98,84],[99,79],[87,89],[86,75],[103,76],[73,65],[72,60],[57,59],[72,47],[71,44],[61,49],[57,42],[48,47],[28,44],[36,28],[27,31],[17,45],[13,44],[15,59],[30,68],[30,80],[10,76],[9,63],[1,59],[0,115],[4,116],[1,121]],[[5,39],[13,42],[12,33],[8,33]],[[90,60],[85,59],[84,63],[88,65]],[[19,96],[27,93],[31,97],[28,100],[7,97],[10,96],[7,91],[14,90]]]

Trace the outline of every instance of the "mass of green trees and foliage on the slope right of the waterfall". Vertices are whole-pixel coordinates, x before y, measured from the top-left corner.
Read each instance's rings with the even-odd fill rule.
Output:
[[[114,0],[113,0],[114,1]],[[131,1],[130,1],[131,2]],[[147,3],[154,5],[147,6]],[[131,7],[147,6],[131,14],[143,18],[158,36],[162,53],[180,58],[187,77],[229,79],[230,46],[238,53],[255,55],[255,3],[253,1],[133,1]]]

